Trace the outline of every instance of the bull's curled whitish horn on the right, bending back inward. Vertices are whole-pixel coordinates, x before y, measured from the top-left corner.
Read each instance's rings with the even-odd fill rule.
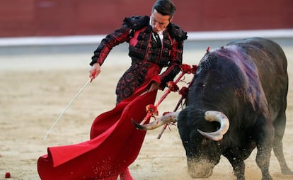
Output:
[[[205,120],[212,122],[212,121],[217,121],[221,124],[221,127],[219,130],[212,132],[212,133],[207,133],[203,132],[201,130],[197,130],[200,134],[204,135],[205,137],[219,141],[222,140],[223,135],[228,131],[229,129],[229,119],[227,118],[224,113],[221,113],[219,111],[206,111],[205,112]]]

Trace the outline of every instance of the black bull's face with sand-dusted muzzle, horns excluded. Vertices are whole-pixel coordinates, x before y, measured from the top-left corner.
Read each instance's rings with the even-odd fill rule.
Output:
[[[188,174],[192,178],[207,178],[212,175],[212,169],[219,163],[219,143],[209,140],[198,133],[197,129],[205,129],[210,123],[204,119],[201,112],[185,108],[178,116],[178,130],[185,148]],[[212,128],[209,129],[212,131]]]

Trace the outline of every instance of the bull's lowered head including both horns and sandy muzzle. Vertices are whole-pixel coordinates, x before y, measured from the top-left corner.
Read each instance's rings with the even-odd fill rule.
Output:
[[[202,118],[205,120],[201,120]],[[212,123],[214,121],[219,122],[220,125]],[[206,111],[205,116],[202,116],[201,112],[185,108],[181,112],[168,113],[146,125],[139,125],[133,121],[140,130],[153,130],[166,123],[175,122],[178,122],[178,130],[185,148],[188,174],[193,178],[212,175],[212,169],[219,163],[221,156],[219,141],[229,129],[229,119],[219,111]],[[215,128],[219,129],[212,132]]]

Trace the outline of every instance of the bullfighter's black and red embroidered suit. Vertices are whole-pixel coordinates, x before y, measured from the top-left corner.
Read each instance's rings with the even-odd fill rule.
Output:
[[[169,23],[163,31],[163,41],[157,43],[152,35],[152,28],[149,25],[149,16],[132,16],[125,18],[122,27],[107,35],[94,51],[92,57],[93,65],[98,62],[103,64],[110,50],[115,45],[127,42],[129,43],[129,56],[132,59],[132,66],[125,72],[118,81],[116,94],[117,101],[121,101],[127,96],[131,96],[132,92],[144,82],[146,73],[151,63],[158,64],[160,72],[163,67],[167,67],[166,71],[161,73],[161,87],[164,88],[168,81],[172,81],[180,72],[179,65],[182,64],[183,41],[187,39],[186,33],[175,23]],[[132,87],[127,88],[125,85],[126,77],[133,76],[134,82]],[[130,86],[130,83],[127,82]],[[125,91],[125,88],[127,90]]]

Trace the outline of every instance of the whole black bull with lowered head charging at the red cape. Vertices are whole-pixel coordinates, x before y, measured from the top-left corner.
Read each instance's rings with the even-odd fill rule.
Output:
[[[272,149],[282,173],[292,174],[282,148],[287,91],[282,48],[263,38],[236,40],[202,57],[182,111],[137,128],[150,130],[178,122],[188,174],[193,178],[210,176],[224,155],[237,179],[245,179],[243,160],[256,147],[255,161],[263,179],[272,179]]]

